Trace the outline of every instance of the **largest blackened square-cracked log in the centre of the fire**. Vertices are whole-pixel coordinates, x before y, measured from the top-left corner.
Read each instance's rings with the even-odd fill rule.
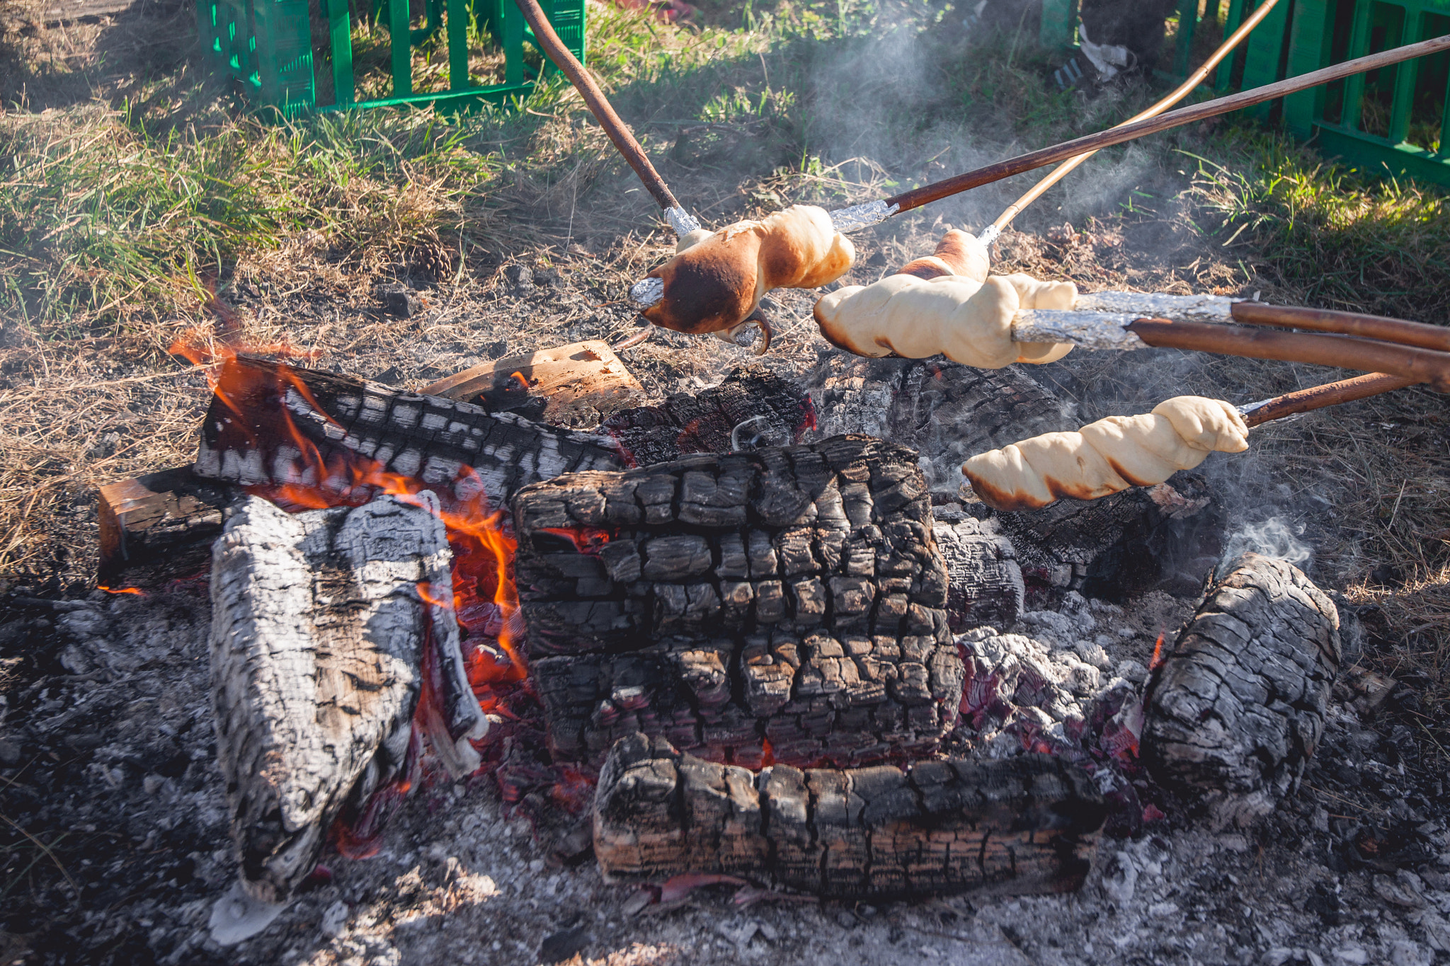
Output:
[[[915,453],[863,436],[525,488],[555,753],[599,762],[634,731],[754,768],[934,750],[963,671],[931,527]]]

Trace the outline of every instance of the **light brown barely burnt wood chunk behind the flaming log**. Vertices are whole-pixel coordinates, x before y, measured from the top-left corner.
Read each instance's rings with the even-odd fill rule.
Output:
[[[624,361],[597,339],[484,362],[420,392],[573,429],[594,427],[645,398]]]

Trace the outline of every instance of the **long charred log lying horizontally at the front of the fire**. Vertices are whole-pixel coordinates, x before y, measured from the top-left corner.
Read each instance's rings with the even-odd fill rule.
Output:
[[[722,872],[847,899],[1069,892],[1103,817],[1047,755],[754,773],[632,734],[599,776],[594,854],[615,881]]]

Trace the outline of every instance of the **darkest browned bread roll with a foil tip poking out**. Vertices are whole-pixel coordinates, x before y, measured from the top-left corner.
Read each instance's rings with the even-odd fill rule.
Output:
[[[856,249],[825,209],[793,204],[760,222],[690,232],[676,256],[650,272],[664,295],[644,317],[676,332],[732,329],[771,288],[815,288],[844,275]]]

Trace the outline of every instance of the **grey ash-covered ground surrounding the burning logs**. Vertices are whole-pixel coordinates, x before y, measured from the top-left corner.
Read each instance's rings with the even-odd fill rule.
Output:
[[[512,298],[518,310],[558,295]],[[805,297],[784,294],[780,304],[805,323]],[[568,333],[605,335],[592,324]],[[819,346],[809,336],[803,343],[779,356],[787,374],[815,364]],[[647,388],[697,388],[748,361],[729,348],[695,350],[713,365],[671,378],[663,361],[644,361]],[[644,359],[663,353],[657,346]],[[1053,429],[1146,408],[1164,382],[1218,382],[1212,365],[1177,353],[1119,366],[1112,381],[1095,377],[1099,365],[1085,358],[1030,371],[1063,400]],[[1331,543],[1335,521],[1299,495],[1318,487],[1333,497],[1333,481],[1286,476],[1311,450],[1314,419],[1322,417],[1247,456],[1215,455],[1202,476],[1218,505],[1217,549],[1292,556],[1335,589],[1334,572],[1312,556]],[[940,503],[942,518],[963,517],[960,505]],[[1056,668],[1079,705],[1115,688],[1137,694],[1157,634],[1172,640],[1196,591],[1177,572],[1140,581],[1116,602],[1092,585],[1083,597],[1061,584],[1031,584],[1028,613],[996,630],[1035,642],[1034,658]],[[329,854],[328,872],[268,931],[222,949],[206,927],[235,862],[215,768],[204,581],[148,597],[96,591],[41,602],[32,592],[14,587],[0,598],[10,676],[0,812],[35,836],[6,839],[0,962],[1450,962],[1446,757],[1417,728],[1425,708],[1414,682],[1373,714],[1337,685],[1302,786],[1269,818],[1215,833],[1164,802],[1161,818],[1102,840],[1073,895],[869,907],[713,886],[639,911],[637,889],[602,882],[580,854],[579,817],[545,810],[531,821],[500,802],[492,778],[452,784],[432,769],[376,857]],[[1341,614],[1346,666],[1375,665],[1396,646],[1373,607],[1346,602]],[[969,733],[953,742],[966,753],[993,753],[989,746]]]

